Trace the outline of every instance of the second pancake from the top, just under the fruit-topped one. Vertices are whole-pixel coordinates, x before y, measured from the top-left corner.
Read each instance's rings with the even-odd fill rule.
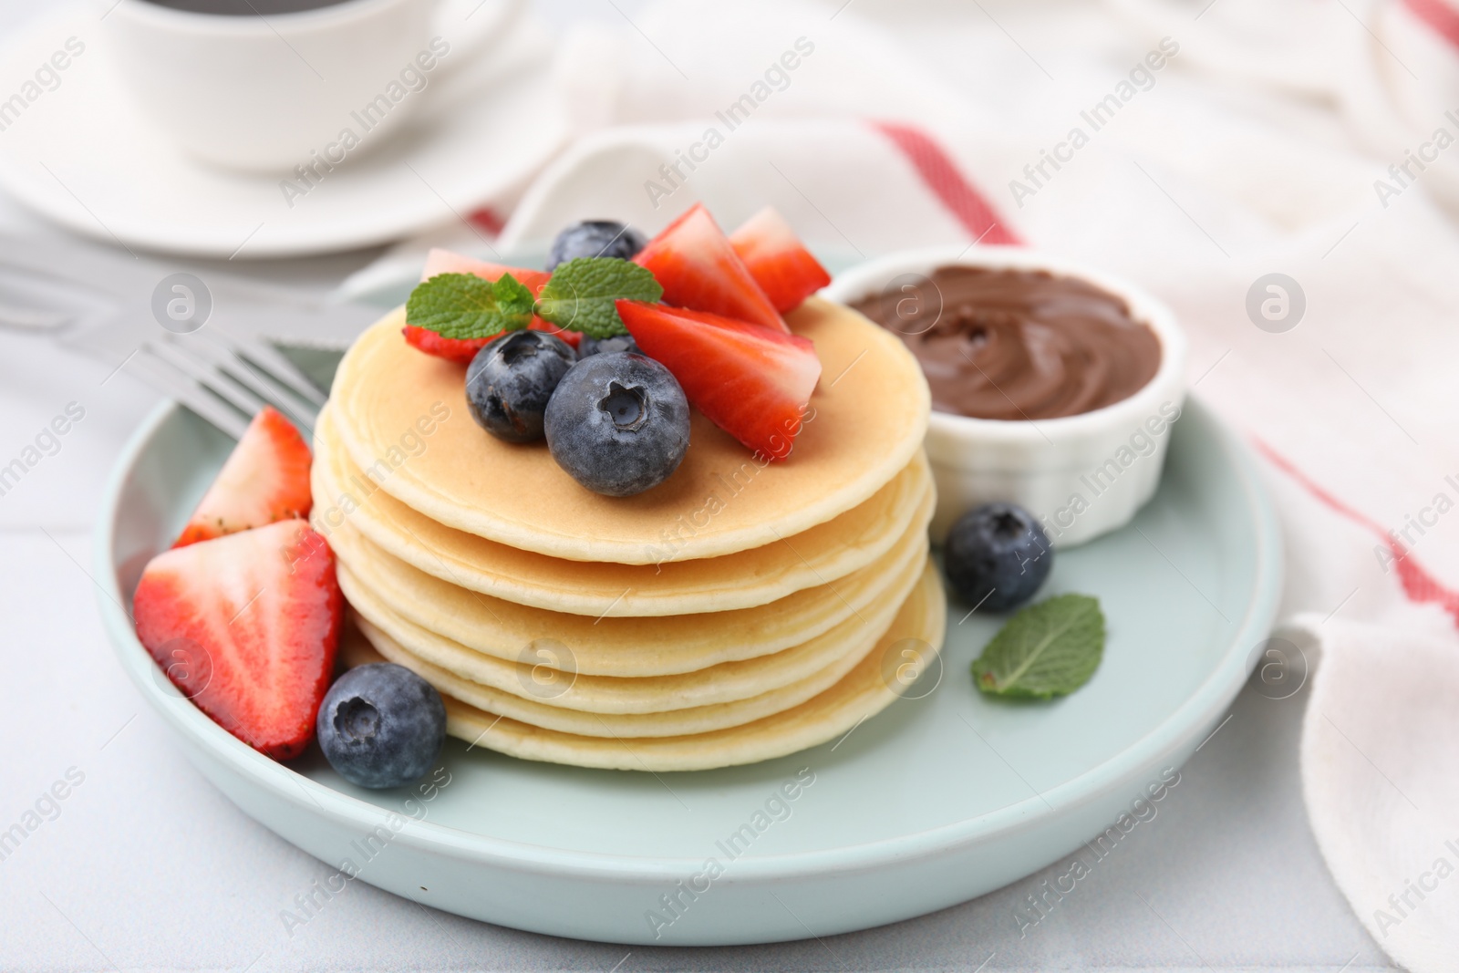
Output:
[[[452,585],[595,619],[730,611],[837,581],[884,556],[910,522],[925,530],[924,513],[929,515],[932,502],[932,474],[926,454],[918,449],[868,500],[763,547],[662,565],[562,560],[444,527],[406,506],[334,446],[334,419],[333,407],[320,417],[311,474],[315,506],[309,519],[325,538],[333,540],[347,524],[390,554]]]

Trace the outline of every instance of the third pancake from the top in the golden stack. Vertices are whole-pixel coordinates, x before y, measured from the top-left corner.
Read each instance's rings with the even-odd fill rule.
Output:
[[[779,601],[713,614],[607,617],[563,614],[483,595],[420,572],[375,547],[346,522],[330,544],[363,598],[452,642],[509,662],[550,636],[584,675],[673,675],[800,645],[881,598],[889,578],[926,557],[931,496],[896,546],[846,578]],[[900,597],[900,595],[899,595]]]

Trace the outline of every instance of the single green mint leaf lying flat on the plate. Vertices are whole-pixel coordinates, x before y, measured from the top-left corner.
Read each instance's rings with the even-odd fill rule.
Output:
[[[1103,656],[1099,600],[1058,595],[1008,619],[973,661],[973,683],[995,696],[1050,699],[1084,686]]]

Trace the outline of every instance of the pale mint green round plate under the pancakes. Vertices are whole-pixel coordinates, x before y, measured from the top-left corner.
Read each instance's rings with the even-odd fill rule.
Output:
[[[652,775],[449,741],[433,786],[371,792],[317,748],[282,764],[233,740],[172,687],[118,607],[231,445],[168,406],[112,476],[98,601],[133,683],[204,776],[308,853],[427,906],[584,939],[823,937],[1027,875],[1115,824],[1191,756],[1246,680],[1280,594],[1280,534],[1256,468],[1192,401],[1134,524],[1059,551],[1045,594],[1097,595],[1109,619],[1103,664],[1067,699],[979,694],[969,664],[999,621],[953,604],[945,665],[833,744]]]

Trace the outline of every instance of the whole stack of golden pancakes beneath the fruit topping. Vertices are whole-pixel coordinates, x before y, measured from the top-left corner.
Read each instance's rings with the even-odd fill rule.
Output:
[[[467,411],[464,369],[366,331],[321,416],[314,525],[363,639],[448,729],[530,760],[624,770],[753,763],[880,712],[943,640],[928,563],[928,392],[902,343],[839,305],[789,315],[823,372],[786,461],[693,414],[683,465],[598,496],[544,443]]]

